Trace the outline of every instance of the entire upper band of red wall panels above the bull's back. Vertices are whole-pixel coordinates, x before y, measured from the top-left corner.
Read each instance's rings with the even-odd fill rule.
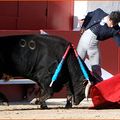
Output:
[[[73,0],[0,1],[1,30],[72,30]]]

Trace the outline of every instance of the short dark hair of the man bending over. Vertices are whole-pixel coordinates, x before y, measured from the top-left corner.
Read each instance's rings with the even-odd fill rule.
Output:
[[[113,11],[109,14],[110,20],[113,21],[113,25],[116,25],[120,22],[120,11]]]

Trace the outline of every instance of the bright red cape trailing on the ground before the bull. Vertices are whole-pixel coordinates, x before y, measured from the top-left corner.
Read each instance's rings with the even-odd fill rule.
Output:
[[[93,86],[90,97],[94,108],[120,108],[120,74]]]

